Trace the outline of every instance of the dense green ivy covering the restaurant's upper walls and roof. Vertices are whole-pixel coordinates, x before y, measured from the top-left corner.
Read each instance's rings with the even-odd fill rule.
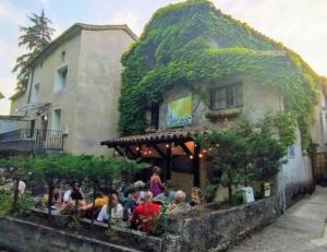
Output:
[[[246,75],[279,88],[287,112],[300,128],[302,146],[310,143],[319,76],[295,52],[222,14],[206,0],[158,10],[123,55],[122,64],[122,134],[142,133],[147,105],[160,100],[172,86],[214,85],[229,76]]]

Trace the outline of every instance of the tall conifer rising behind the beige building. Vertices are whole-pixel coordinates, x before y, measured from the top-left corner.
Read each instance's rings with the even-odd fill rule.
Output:
[[[27,16],[32,25],[27,27],[21,26],[23,33],[19,37],[19,46],[25,47],[27,52],[16,59],[13,72],[17,73],[17,89],[26,89],[31,70],[26,68],[32,60],[45,49],[51,41],[51,36],[56,31],[50,25],[52,22],[45,15],[43,10],[40,15],[35,13]]]

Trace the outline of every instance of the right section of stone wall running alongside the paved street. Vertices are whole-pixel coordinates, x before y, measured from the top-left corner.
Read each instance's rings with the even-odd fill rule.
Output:
[[[169,231],[180,233],[180,248],[177,251],[219,251],[246,233],[271,224],[278,213],[276,197],[269,197],[202,217],[170,220]]]

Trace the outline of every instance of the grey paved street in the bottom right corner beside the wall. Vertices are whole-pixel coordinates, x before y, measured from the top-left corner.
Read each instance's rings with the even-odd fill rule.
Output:
[[[318,187],[312,196],[289,208],[275,224],[230,251],[326,252],[327,235],[323,238],[326,217],[327,189]]]

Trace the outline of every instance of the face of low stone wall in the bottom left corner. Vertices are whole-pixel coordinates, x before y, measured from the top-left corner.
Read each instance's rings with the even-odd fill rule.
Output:
[[[136,252],[21,219],[0,217],[0,247],[17,252]]]

